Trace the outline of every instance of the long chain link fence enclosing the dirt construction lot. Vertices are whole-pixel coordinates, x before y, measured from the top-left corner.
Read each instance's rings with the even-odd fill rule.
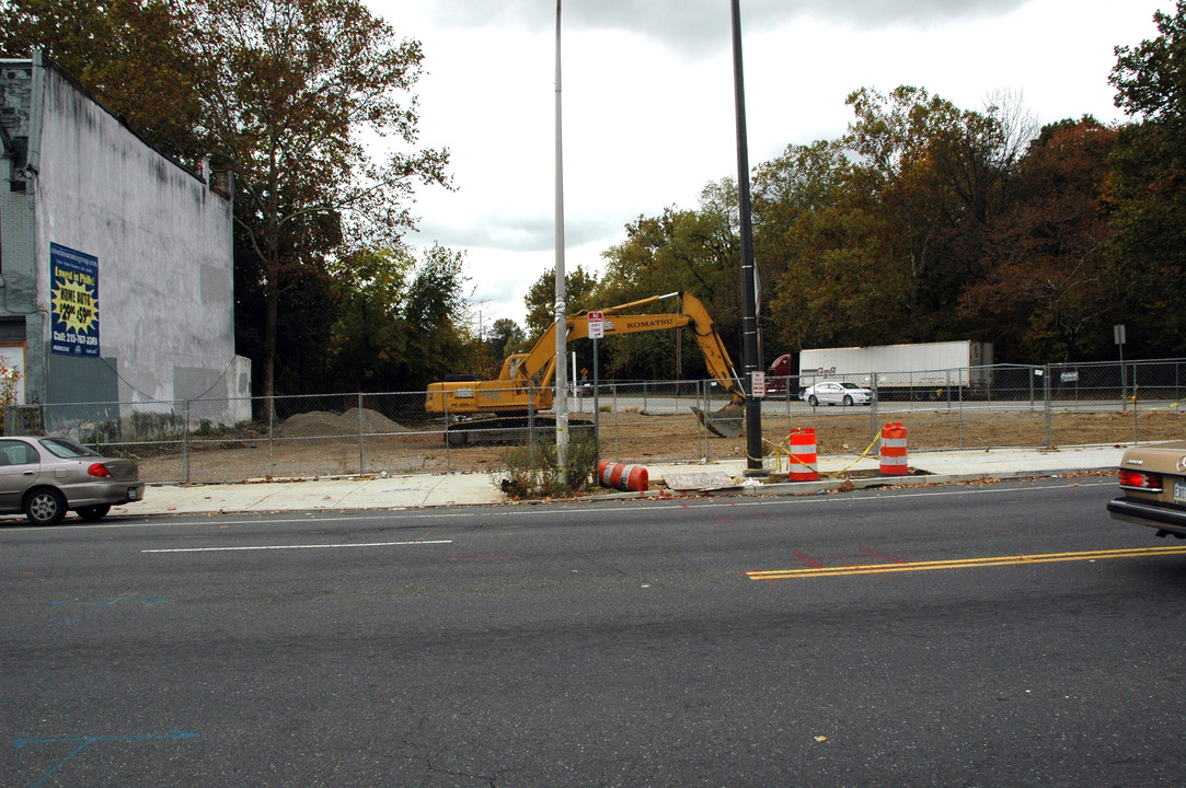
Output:
[[[823,382],[872,391],[868,405],[810,404]],[[1123,365],[994,365],[828,378],[789,378],[790,396],[763,402],[765,454],[810,427],[821,454],[876,451],[885,423],[901,422],[911,451],[1131,443],[1186,437],[1186,360]],[[729,403],[712,380],[578,384],[568,398],[570,435],[600,436],[614,462],[702,462],[742,457],[744,434],[719,437],[694,408]],[[538,418],[535,418],[538,416]],[[213,483],[355,474],[496,473],[510,446],[555,443],[553,414],[525,415],[514,430],[468,427],[446,440],[447,416],[426,410],[426,392],[339,393],[152,403],[8,405],[5,433],[71,437],[134,456],[153,483]],[[477,429],[474,429],[477,428]]]

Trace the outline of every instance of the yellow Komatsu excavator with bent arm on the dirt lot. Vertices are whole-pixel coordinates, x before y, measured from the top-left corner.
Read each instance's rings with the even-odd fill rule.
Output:
[[[680,312],[626,313],[676,296],[682,301]],[[607,307],[600,312],[606,337],[688,326],[704,354],[709,374],[729,398],[728,404],[713,414],[706,414],[695,406],[691,410],[715,435],[735,437],[741,434],[745,389],[741,387],[728,351],[700,299],[690,293],[668,293]],[[588,313],[568,316],[565,326],[567,340],[587,338]],[[474,376],[451,376],[444,383],[429,384],[425,409],[431,415],[445,417],[445,440],[449,446],[464,446],[471,437],[474,442],[505,440],[508,431],[511,435],[521,434],[533,419],[536,427],[555,427],[555,416],[543,412],[553,406],[550,386],[555,371],[556,325],[553,323],[529,352],[508,357],[493,380],[478,380]],[[584,422],[574,425],[581,424]]]

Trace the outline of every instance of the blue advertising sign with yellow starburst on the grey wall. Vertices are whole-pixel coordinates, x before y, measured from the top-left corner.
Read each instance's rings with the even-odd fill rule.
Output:
[[[98,257],[50,244],[51,347],[98,357]]]

